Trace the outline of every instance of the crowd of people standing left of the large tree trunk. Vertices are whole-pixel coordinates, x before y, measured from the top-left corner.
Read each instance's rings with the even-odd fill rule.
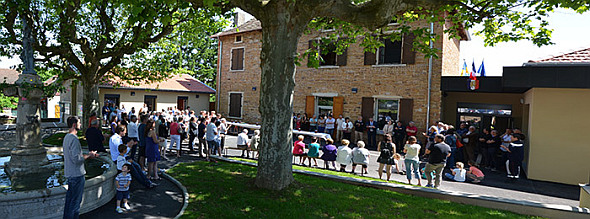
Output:
[[[102,113],[105,122],[94,114],[90,117],[85,137],[92,155],[87,158],[96,157],[97,152],[107,152],[103,143],[108,142],[108,153],[119,171],[116,177],[118,213],[130,209],[127,203],[130,182],[136,181],[145,188],[158,186],[155,182],[161,177],[157,162],[169,159],[169,156],[179,158],[183,145],[188,145],[188,150],[208,161],[210,155],[222,156],[225,134],[231,126],[215,111],[196,114],[190,108],[179,110],[169,107],[162,111],[149,111],[144,104],[138,111],[135,108],[127,111],[124,105],[119,108],[106,104]],[[78,120],[77,117],[69,118],[70,128],[78,124]],[[108,130],[107,133],[102,131],[103,128]],[[72,132],[78,129],[71,128]],[[249,141],[248,152],[252,147],[256,148],[258,142],[256,137]],[[64,141],[64,148],[66,144],[72,143]]]

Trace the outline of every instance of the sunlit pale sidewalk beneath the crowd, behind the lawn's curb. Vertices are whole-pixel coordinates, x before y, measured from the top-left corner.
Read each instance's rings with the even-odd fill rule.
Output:
[[[237,137],[227,136],[226,145],[235,145]],[[228,150],[229,156],[240,156],[241,152],[238,150]],[[379,153],[371,151],[370,164],[368,166],[369,174],[365,175],[368,177],[379,178],[378,167],[379,164],[376,162]],[[297,160],[298,162],[299,160]],[[324,162],[318,159],[318,166],[324,167]],[[307,163],[307,162],[306,162]],[[338,166],[338,164],[336,164]],[[330,167],[331,168],[331,167]],[[395,167],[392,172],[395,172]],[[352,167],[348,166],[346,171],[352,171]],[[464,182],[451,182],[442,181],[440,189],[443,191],[450,192],[463,192],[477,195],[493,196],[498,198],[507,198],[514,200],[531,201],[542,204],[560,204],[568,206],[579,205],[580,188],[574,185],[565,185],[559,183],[543,182],[528,179],[519,179],[516,182],[506,181],[506,176],[501,173],[491,172],[489,170],[482,170],[484,172],[485,179],[480,184],[464,183]],[[360,174],[359,167],[357,166],[357,174]],[[383,173],[383,179],[386,179],[386,173]],[[408,180],[405,175],[393,173],[391,180],[407,183]],[[416,180],[412,181],[416,184]],[[422,185],[426,185],[427,181],[422,179]]]

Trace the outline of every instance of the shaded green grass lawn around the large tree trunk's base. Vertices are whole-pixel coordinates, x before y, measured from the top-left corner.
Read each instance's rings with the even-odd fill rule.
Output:
[[[256,168],[181,163],[168,173],[189,192],[183,218],[531,218],[295,174],[283,191],[256,188]]]

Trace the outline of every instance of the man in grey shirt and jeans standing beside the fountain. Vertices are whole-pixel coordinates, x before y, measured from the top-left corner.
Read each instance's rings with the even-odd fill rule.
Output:
[[[78,130],[80,130],[80,119],[76,116],[70,116],[67,120],[69,127],[68,134],[63,140],[64,150],[64,176],[68,179],[68,191],[66,192],[66,202],[64,206],[64,219],[78,218],[80,215],[80,202],[84,194],[84,160],[98,157],[96,151],[90,151],[88,154],[82,154],[82,147],[78,139]]]

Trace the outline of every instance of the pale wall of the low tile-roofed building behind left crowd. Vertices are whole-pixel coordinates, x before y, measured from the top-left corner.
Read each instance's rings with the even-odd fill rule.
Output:
[[[135,92],[135,96],[131,96],[131,92]],[[145,90],[124,90],[124,89],[108,89],[101,88],[99,90],[100,104],[104,104],[105,94],[119,94],[121,106],[125,106],[127,111],[131,107],[135,107],[136,112],[143,106],[144,97],[146,95],[157,96],[156,108],[157,111],[162,111],[168,107],[176,107],[179,96],[188,97],[188,106],[191,110],[199,112],[201,110],[209,110],[209,94],[203,93],[187,93],[187,92],[168,92],[168,91],[145,91]],[[196,97],[199,95],[199,98]]]

